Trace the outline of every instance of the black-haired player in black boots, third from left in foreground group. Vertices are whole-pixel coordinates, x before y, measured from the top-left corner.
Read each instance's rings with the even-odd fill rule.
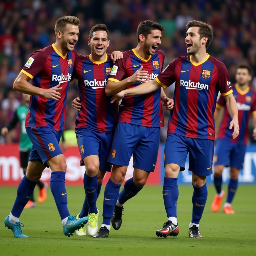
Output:
[[[164,54],[157,50],[157,47],[161,44],[163,30],[161,24],[151,20],[145,20],[138,25],[138,45],[132,50],[125,51],[123,59],[113,66],[105,89],[107,95],[150,81],[160,74]],[[148,95],[127,97],[120,105],[118,124],[109,156],[113,169],[104,191],[103,222],[94,238],[109,235],[112,216],[113,228],[120,228],[124,202],[135,196],[145,185],[150,172],[154,172],[160,127],[164,126],[160,99],[166,108],[173,107],[173,100],[168,99],[161,89]],[[133,178],[125,182],[124,189],[119,194],[132,155]],[[147,160],[144,159],[145,155],[148,157]]]

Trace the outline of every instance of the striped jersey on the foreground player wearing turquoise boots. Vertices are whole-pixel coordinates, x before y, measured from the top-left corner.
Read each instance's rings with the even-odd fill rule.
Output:
[[[61,98],[56,101],[43,96],[31,95],[25,127],[50,126],[56,131],[66,126],[67,90],[73,72],[73,62],[78,57],[76,51],[63,56],[54,44],[35,51],[21,70],[32,80],[32,85],[49,89],[59,83]]]

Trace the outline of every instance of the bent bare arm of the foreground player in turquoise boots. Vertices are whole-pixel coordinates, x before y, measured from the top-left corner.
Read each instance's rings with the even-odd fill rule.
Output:
[[[30,94],[30,95],[43,96],[46,99],[54,99],[57,101],[60,99],[59,90],[62,89],[62,87],[60,87],[60,84],[49,89],[43,89],[43,88],[33,86],[31,83],[29,83],[30,80],[31,80],[31,77],[20,72],[13,83],[14,90],[22,93]]]

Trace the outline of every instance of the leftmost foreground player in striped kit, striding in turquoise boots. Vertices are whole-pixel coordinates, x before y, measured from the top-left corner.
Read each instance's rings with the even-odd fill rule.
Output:
[[[22,233],[19,217],[46,166],[51,168],[50,188],[66,236],[83,227],[88,217],[76,219],[69,214],[65,188],[66,161],[59,146],[66,122],[67,89],[78,57],[74,45],[79,35],[79,19],[63,16],[55,24],[56,42],[35,51],[14,82],[14,89],[32,95],[26,116],[26,132],[33,143],[26,175],[19,183],[17,197],[5,226],[15,237]],[[32,84],[28,81],[32,79]],[[60,87],[60,83],[62,84]],[[50,218],[50,217],[49,217]]]

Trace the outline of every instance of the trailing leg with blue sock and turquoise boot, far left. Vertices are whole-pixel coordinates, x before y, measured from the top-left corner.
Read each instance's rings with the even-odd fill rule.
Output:
[[[45,166],[38,161],[28,162],[27,172],[19,183],[13,208],[4,221],[5,226],[13,231],[14,237],[27,238],[21,231],[23,224],[19,222],[19,217],[31,198],[36,182],[40,179],[44,169]]]

